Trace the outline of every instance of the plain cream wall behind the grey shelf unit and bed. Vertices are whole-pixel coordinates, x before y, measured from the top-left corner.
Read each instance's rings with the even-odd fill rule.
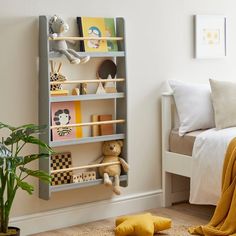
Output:
[[[129,86],[129,187],[131,193],[161,188],[160,95],[168,78],[206,82],[236,76],[234,0],[0,0],[0,120],[13,125],[38,120],[38,16],[123,16],[126,19]],[[228,56],[193,59],[193,15],[228,16]],[[32,151],[32,150],[30,150]],[[34,181],[34,180],[32,180]],[[37,183],[37,181],[34,181]],[[19,192],[14,216],[107,199],[103,186],[56,193],[50,201]]]

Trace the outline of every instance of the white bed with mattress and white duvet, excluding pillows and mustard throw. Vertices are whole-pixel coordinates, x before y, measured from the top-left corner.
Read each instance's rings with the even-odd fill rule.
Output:
[[[215,205],[220,195],[224,154],[230,140],[236,137],[236,128],[220,130],[210,128],[179,136],[178,127],[179,118],[173,93],[164,93],[162,95],[163,206],[167,207],[186,200],[194,204]],[[191,189],[192,186],[194,188]]]

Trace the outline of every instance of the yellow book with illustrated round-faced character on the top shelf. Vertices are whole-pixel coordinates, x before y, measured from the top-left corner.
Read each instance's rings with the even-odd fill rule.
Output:
[[[81,49],[85,52],[107,52],[107,41],[99,40],[106,37],[104,18],[77,17],[79,33],[82,37],[93,37],[98,39],[82,41]]]

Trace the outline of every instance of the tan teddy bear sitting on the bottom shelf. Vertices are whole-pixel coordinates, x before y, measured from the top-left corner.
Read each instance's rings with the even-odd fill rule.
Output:
[[[106,186],[112,186],[112,181],[109,177],[114,177],[114,186],[113,192],[117,195],[120,195],[120,174],[121,174],[121,165],[125,172],[128,171],[129,165],[127,162],[119,157],[121,153],[121,148],[123,146],[122,141],[106,141],[102,145],[103,156],[97,160],[99,163],[109,163],[119,161],[120,164],[102,166],[98,168],[99,174],[104,179],[104,184]]]

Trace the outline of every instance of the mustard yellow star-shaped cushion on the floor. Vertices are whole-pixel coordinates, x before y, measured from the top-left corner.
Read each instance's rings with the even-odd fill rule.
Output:
[[[123,216],[116,219],[116,236],[153,236],[154,233],[169,229],[171,220],[151,213]]]

